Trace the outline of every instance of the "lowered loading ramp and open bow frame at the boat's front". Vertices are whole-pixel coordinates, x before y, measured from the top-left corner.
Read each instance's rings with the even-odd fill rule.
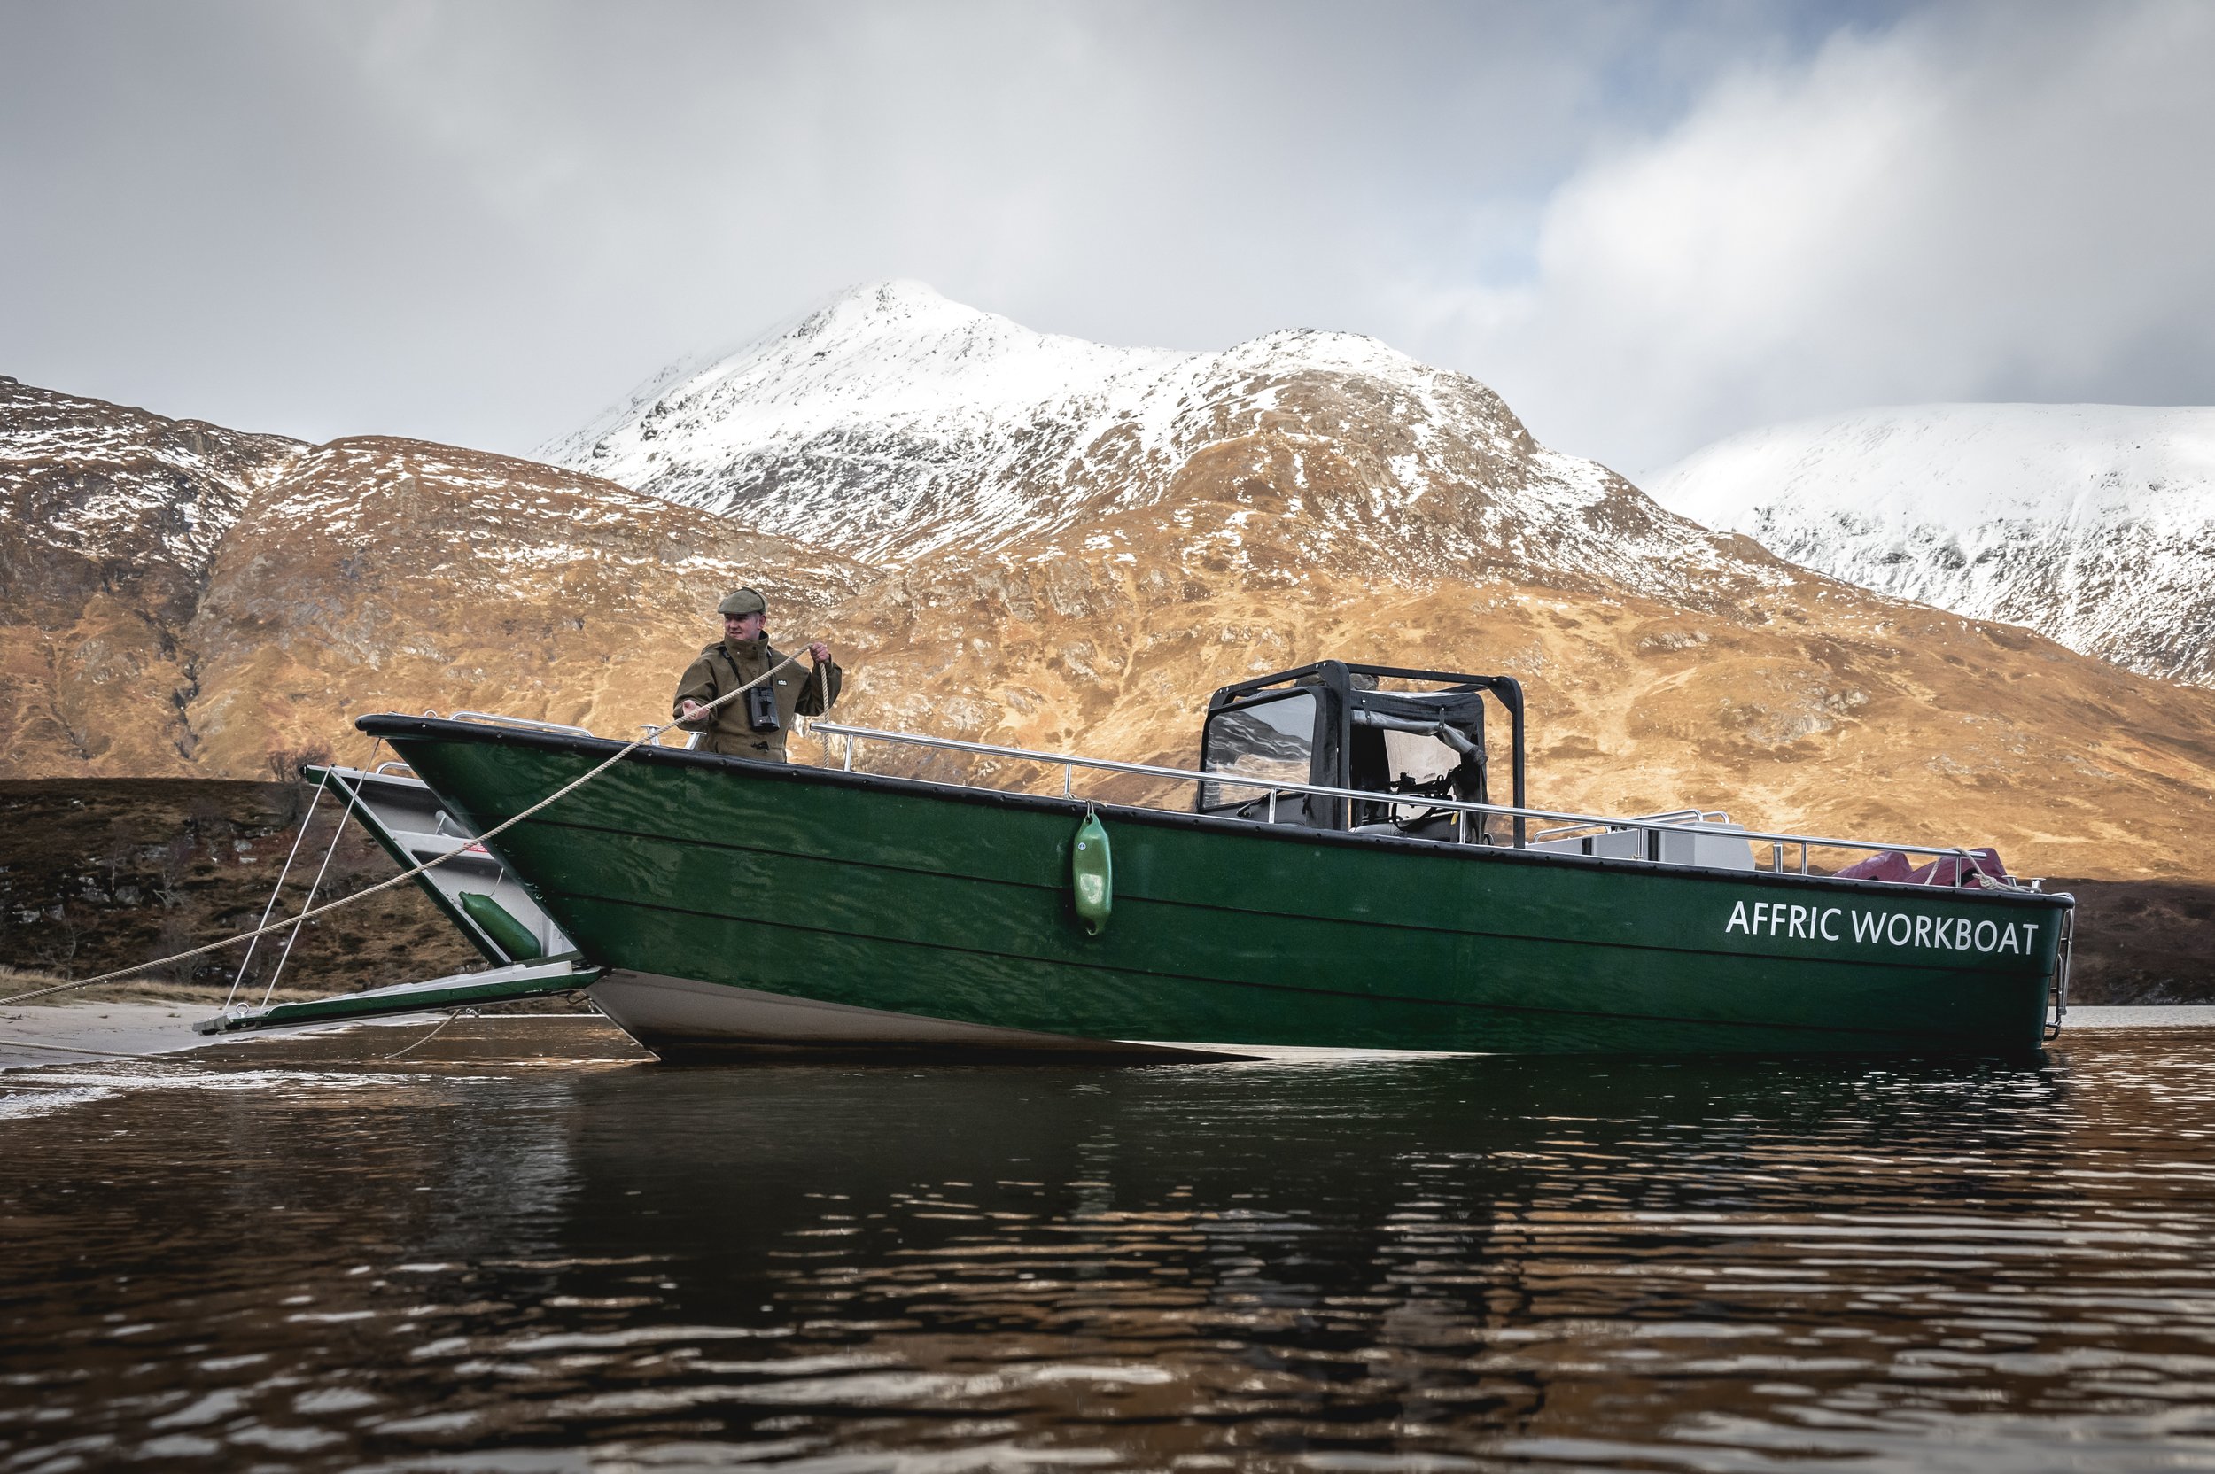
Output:
[[[403,870],[447,857],[443,865],[425,870],[414,881],[432,905],[485,956],[490,967],[359,994],[224,1011],[195,1023],[197,1034],[248,1034],[399,1014],[439,1014],[483,1003],[571,994],[600,976],[598,967],[578,958],[576,945],[554,925],[529,890],[507,872],[507,865],[476,843],[476,832],[450,814],[423,779],[394,768],[401,766],[385,764],[374,772],[330,766],[308,768],[306,777],[317,779],[339,797],[343,806],[339,823],[352,814]],[[284,885],[284,876],[277,883]],[[315,894],[310,892],[301,910],[312,903]]]

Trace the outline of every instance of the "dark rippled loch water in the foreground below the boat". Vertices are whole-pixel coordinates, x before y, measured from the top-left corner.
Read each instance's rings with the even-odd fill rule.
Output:
[[[0,1470],[2215,1467],[2215,1034],[0,1078]]]

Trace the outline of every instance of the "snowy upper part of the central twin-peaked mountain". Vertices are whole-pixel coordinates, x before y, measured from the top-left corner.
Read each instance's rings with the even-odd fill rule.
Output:
[[[1743,575],[1606,467],[1537,445],[1482,383],[1373,339],[1225,352],[1032,332],[915,281],[862,286],[718,363],[678,365],[538,456],[870,562],[1061,551],[1187,502],[1260,440],[1318,562],[1672,591]],[[1045,538],[1041,544],[1039,540]],[[1236,529],[1232,529],[1236,542]]]

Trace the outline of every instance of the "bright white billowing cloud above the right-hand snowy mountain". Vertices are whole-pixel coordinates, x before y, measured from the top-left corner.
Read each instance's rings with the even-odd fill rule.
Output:
[[[1409,305],[1626,467],[1876,403],[2215,396],[2208,75],[2206,4],[1838,33],[1568,177],[1531,281]]]

